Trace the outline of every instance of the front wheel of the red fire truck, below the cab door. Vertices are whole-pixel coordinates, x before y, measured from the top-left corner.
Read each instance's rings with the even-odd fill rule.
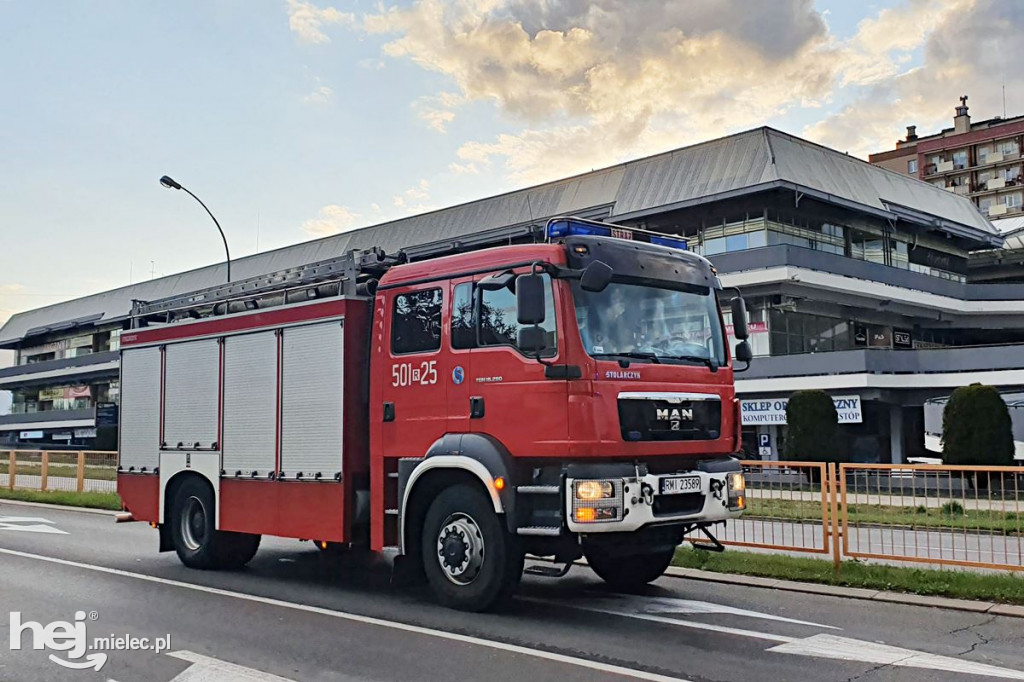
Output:
[[[519,587],[519,543],[476,486],[443,489],[427,509],[420,541],[424,572],[443,606],[493,609],[507,603]]]

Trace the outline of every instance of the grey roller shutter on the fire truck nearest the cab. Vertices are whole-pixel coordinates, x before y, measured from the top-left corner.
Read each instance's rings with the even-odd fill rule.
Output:
[[[284,330],[281,469],[287,478],[341,472],[343,335],[340,322]]]

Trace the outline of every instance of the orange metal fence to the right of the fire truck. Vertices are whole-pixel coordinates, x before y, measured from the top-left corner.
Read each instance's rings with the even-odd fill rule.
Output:
[[[1024,468],[741,463],[746,511],[719,529],[756,551],[1024,570]],[[697,540],[697,538],[693,538]]]

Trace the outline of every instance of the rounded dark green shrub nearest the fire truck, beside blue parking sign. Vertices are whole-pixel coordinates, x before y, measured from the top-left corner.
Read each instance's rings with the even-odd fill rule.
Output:
[[[824,391],[797,391],[785,406],[785,459],[836,462],[840,459],[839,414]]]

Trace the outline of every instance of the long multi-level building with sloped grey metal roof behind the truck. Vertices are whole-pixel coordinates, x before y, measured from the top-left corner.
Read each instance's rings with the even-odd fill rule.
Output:
[[[508,240],[509,227],[532,233],[558,215],[685,236],[748,297],[760,357],[740,391],[855,393],[862,420],[844,427],[861,459],[912,451],[921,406],[935,391],[996,374],[1000,385],[1024,387],[1024,353],[968,359],[978,344],[1024,348],[1014,345],[1024,344],[1024,285],[971,281],[970,254],[1004,244],[971,201],[771,128],[256,254],[231,270],[243,280],[353,248],[469,248],[499,231]],[[0,370],[0,389],[14,391],[14,414],[0,417],[0,438],[96,444],[88,434],[97,410],[109,420],[118,399],[118,335],[132,301],[224,278],[223,265],[211,265],[12,316],[0,347],[15,349],[17,365]],[[781,425],[765,426],[777,456]],[[756,433],[752,426],[752,443]]]

